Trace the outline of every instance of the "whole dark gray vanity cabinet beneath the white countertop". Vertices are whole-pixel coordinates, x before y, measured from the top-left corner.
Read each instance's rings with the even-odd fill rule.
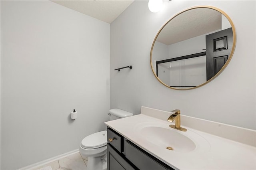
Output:
[[[174,170],[108,128],[107,170]]]

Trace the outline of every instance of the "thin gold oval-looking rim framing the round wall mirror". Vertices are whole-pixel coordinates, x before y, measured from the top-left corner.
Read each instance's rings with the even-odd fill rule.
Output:
[[[213,10],[216,10],[218,12],[220,12],[222,15],[224,15],[227,20],[230,22],[230,25],[231,25],[231,28],[232,28],[232,32],[233,32],[233,44],[232,44],[232,49],[231,49],[231,52],[230,52],[230,55],[228,57],[228,60],[226,61],[226,63],[224,64],[224,66],[220,69],[220,71],[218,71],[218,73],[216,73],[216,75],[214,75],[211,79],[209,79],[208,81],[206,81],[205,83],[202,83],[196,87],[191,87],[191,88],[188,88],[188,89],[178,89],[178,88],[174,88],[174,87],[170,87],[168,85],[166,85],[163,81],[161,81],[158,76],[156,75],[155,71],[154,71],[154,67],[153,67],[153,63],[152,63],[152,51],[153,51],[153,47],[154,47],[154,44],[156,42],[156,39],[158,38],[158,35],[160,34],[160,32],[162,31],[162,29],[166,26],[166,24],[168,24],[173,18],[175,18],[176,16],[188,11],[188,10],[192,10],[192,9],[197,9],[197,8],[210,8],[210,9],[213,9]],[[213,7],[213,6],[195,6],[195,7],[192,7],[192,8],[188,8],[186,10],[183,10],[181,12],[179,12],[178,14],[174,15],[172,18],[170,18],[170,20],[168,20],[161,28],[160,30],[158,31],[158,33],[156,34],[156,37],[152,43],[152,47],[151,47],[151,50],[150,50],[150,64],[151,64],[151,69],[156,77],[156,79],[158,79],[158,81],[160,81],[160,83],[162,83],[163,85],[165,85],[166,87],[170,88],[170,89],[175,89],[175,90],[190,90],[190,89],[196,89],[198,87],[201,87],[203,85],[205,85],[206,83],[209,83],[210,81],[212,81],[213,79],[215,79],[218,75],[220,75],[220,73],[222,73],[222,71],[227,67],[228,63],[230,62],[232,56],[233,56],[233,53],[234,53],[234,50],[235,50],[235,47],[236,47],[236,30],[235,30],[235,27],[234,27],[234,24],[232,22],[232,20],[230,19],[230,17],[222,10],[216,8],[216,7]]]

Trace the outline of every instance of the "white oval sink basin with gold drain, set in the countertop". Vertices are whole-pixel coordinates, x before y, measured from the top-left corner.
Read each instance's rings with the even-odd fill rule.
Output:
[[[151,143],[159,150],[170,152],[207,151],[210,148],[205,138],[188,129],[186,132],[170,128],[169,124],[142,123],[134,127],[134,132],[144,142]],[[172,150],[170,150],[172,149]]]

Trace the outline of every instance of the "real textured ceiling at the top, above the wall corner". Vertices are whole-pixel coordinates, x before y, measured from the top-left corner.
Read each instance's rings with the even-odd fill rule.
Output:
[[[52,2],[110,24],[132,4],[133,0],[52,0]]]

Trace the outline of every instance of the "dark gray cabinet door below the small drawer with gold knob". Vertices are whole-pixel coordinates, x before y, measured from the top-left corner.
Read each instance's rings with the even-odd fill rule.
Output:
[[[109,144],[107,150],[107,170],[134,170],[120,154],[118,154]]]

